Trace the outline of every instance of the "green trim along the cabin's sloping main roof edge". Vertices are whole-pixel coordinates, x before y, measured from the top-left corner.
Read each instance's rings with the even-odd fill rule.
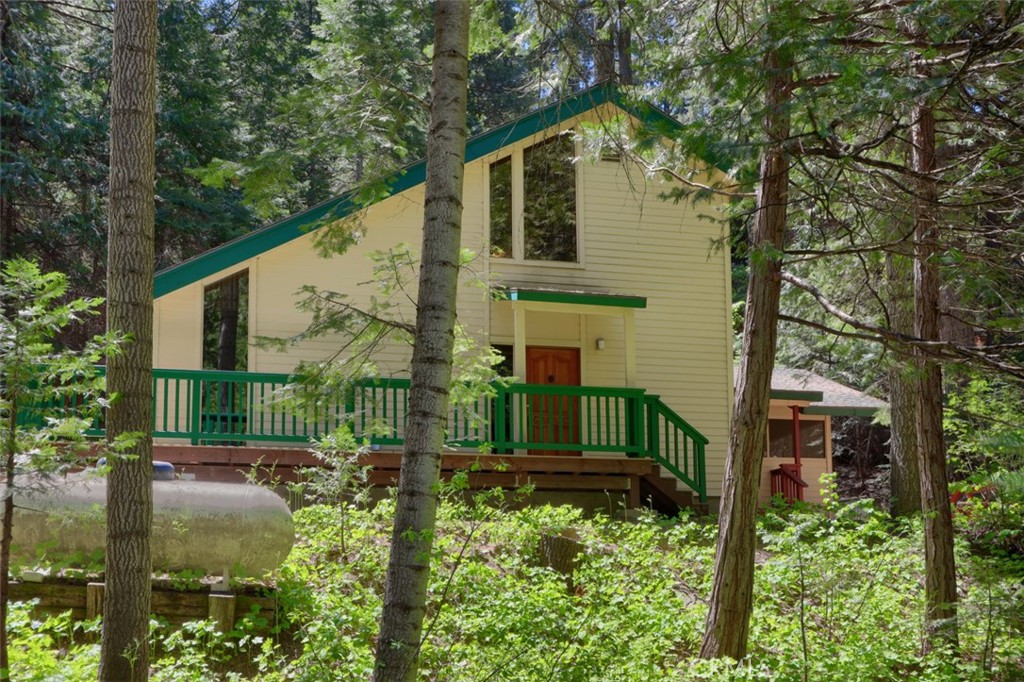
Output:
[[[466,163],[476,161],[503,146],[518,142],[546,128],[609,102],[636,117],[652,129],[665,131],[666,134],[681,127],[679,122],[655,106],[646,102],[627,100],[622,97],[618,89],[613,85],[599,85],[539,109],[494,130],[473,136],[466,142]],[[422,183],[426,179],[426,161],[421,160],[396,172],[385,180],[387,190],[378,196],[374,203]],[[352,189],[318,206],[210,249],[158,272],[154,280],[154,297],[159,298],[187,287],[211,274],[298,239],[311,229],[315,229],[319,223],[340,220],[365,207],[366,205],[361,205],[357,201],[357,190]]]

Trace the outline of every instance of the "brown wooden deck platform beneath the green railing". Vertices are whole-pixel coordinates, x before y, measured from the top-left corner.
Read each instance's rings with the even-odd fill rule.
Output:
[[[248,447],[234,445],[154,446],[154,459],[170,462],[178,474],[196,480],[241,482],[257,479],[295,482],[300,469],[323,463],[311,453],[295,447]],[[376,451],[359,458],[371,466],[370,482],[395,485],[401,454]],[[631,507],[640,506],[640,481],[653,475],[654,464],[642,457],[571,457],[542,455],[472,455],[450,453],[441,457],[441,477],[471,471],[471,488],[515,488],[532,483],[538,491],[616,492],[628,497]]]

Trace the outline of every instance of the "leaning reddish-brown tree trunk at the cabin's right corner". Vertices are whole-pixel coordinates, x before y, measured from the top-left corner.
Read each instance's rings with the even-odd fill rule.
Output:
[[[746,655],[754,599],[755,516],[761,462],[768,442],[768,401],[775,363],[775,340],[785,230],[790,159],[787,104],[792,89],[790,58],[771,49],[765,56],[765,132],[757,211],[751,233],[750,288],[743,318],[743,345],[732,411],[732,429],[719,510],[718,548],[711,607],[700,656]]]

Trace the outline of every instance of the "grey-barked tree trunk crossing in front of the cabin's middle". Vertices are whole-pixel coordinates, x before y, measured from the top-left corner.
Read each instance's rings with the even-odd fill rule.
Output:
[[[434,4],[423,258],[401,457],[374,680],[417,677],[452,381],[466,154],[469,3]]]

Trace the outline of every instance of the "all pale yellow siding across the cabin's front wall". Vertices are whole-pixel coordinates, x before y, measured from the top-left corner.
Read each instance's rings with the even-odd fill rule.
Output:
[[[486,236],[487,164],[506,153],[466,168],[463,244],[478,254],[484,253]],[[637,386],[660,395],[711,439],[709,494],[715,497],[721,489],[732,391],[729,255],[712,246],[713,240],[725,233],[723,225],[700,218],[700,214],[714,214],[714,207],[695,209],[687,203],[660,200],[659,194],[669,188],[629,164],[583,162],[578,181],[581,263],[514,263],[478,257],[465,268],[464,280],[475,274],[520,286],[645,296],[647,308],[635,311]],[[349,293],[353,302],[365,304],[376,293],[364,284],[371,279],[367,255],[400,242],[419,251],[422,211],[423,188],[418,186],[372,206],[365,216],[366,237],[342,257],[319,258],[310,235],[240,265],[250,268],[250,336],[289,337],[302,331],[307,316],[296,311],[295,293],[305,284]],[[173,361],[176,367],[200,367],[202,287],[226,273],[211,275],[158,301],[162,319],[166,318],[159,332],[158,366]],[[415,289],[413,283],[410,297],[415,297]],[[191,303],[186,305],[186,301]],[[481,289],[464,283],[459,306],[460,323],[481,342],[512,341],[510,303],[487,304]],[[401,311],[413,319],[411,304],[402,305]],[[527,343],[580,347],[585,384],[625,384],[621,317],[530,311],[527,330]],[[596,349],[597,338],[605,340],[604,350]],[[322,339],[305,342],[287,354],[251,346],[249,369],[289,372],[300,359],[322,359],[340,345],[339,339]],[[404,345],[384,349],[378,356],[382,374],[402,374],[409,355]]]

